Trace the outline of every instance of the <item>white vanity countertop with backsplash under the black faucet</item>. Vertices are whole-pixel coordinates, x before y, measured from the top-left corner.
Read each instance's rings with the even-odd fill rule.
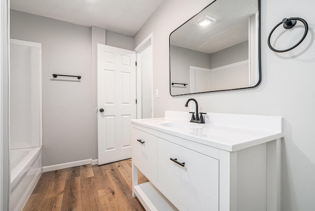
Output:
[[[241,114],[207,113],[201,128],[172,128],[163,123],[189,123],[190,114],[165,111],[165,117],[134,119],[131,123],[166,134],[209,145],[226,151],[237,151],[284,137],[283,117]]]

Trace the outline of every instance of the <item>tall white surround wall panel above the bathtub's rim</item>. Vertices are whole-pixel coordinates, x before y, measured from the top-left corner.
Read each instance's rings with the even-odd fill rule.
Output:
[[[10,39],[10,149],[42,146],[41,55],[41,43]]]

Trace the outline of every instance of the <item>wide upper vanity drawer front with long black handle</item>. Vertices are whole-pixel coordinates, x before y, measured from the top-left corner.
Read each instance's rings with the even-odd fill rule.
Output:
[[[185,166],[182,167],[170,158],[185,163]],[[219,160],[158,138],[158,161],[177,176],[219,199]]]

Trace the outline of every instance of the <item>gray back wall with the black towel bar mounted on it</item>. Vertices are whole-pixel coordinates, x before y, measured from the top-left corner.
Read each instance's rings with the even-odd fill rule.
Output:
[[[95,66],[92,71],[92,43],[104,42],[104,29],[95,28],[92,38],[91,27],[16,10],[10,13],[11,38],[42,43],[44,166],[96,159],[97,119],[93,113],[97,98],[92,84],[97,75]],[[106,41],[115,47],[133,45],[132,37],[118,36]],[[80,82],[51,80],[53,73],[82,78]]]

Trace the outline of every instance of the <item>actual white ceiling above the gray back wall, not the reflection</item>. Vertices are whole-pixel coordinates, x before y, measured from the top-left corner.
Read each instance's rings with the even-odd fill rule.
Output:
[[[135,35],[164,0],[10,0],[10,8]]]

